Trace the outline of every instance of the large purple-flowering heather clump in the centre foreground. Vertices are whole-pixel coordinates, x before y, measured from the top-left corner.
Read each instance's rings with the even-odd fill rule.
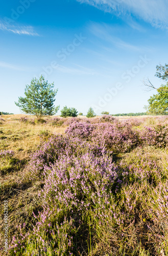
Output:
[[[59,202],[69,209],[79,206],[79,210],[87,210],[90,204],[110,195],[116,178],[116,167],[106,155],[96,157],[91,152],[82,156],[63,155],[45,180],[42,190],[45,206]]]

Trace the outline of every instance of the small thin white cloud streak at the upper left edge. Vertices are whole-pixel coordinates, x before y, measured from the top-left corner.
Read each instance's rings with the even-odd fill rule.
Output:
[[[0,30],[12,32],[18,35],[32,35],[38,36],[38,34],[34,31],[32,26],[16,26],[16,25],[8,25],[0,21]]]

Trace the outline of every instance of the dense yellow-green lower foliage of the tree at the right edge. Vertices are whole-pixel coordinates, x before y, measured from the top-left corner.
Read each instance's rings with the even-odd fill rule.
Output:
[[[168,115],[168,82],[157,89],[157,94],[148,100],[149,106],[145,108],[152,115]]]

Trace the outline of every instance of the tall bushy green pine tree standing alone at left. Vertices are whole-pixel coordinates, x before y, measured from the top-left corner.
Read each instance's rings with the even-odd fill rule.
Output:
[[[59,106],[54,106],[54,98],[58,89],[53,90],[53,88],[54,82],[52,84],[48,83],[42,75],[39,80],[33,78],[30,86],[26,86],[26,97],[19,97],[18,102],[15,102],[15,104],[24,113],[36,115],[38,118],[52,116],[59,110]]]

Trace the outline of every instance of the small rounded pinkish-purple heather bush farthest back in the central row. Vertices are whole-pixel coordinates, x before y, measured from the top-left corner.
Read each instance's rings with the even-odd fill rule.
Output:
[[[94,127],[91,124],[86,122],[73,122],[69,125],[65,133],[67,133],[70,137],[79,137],[82,139],[87,139]]]

